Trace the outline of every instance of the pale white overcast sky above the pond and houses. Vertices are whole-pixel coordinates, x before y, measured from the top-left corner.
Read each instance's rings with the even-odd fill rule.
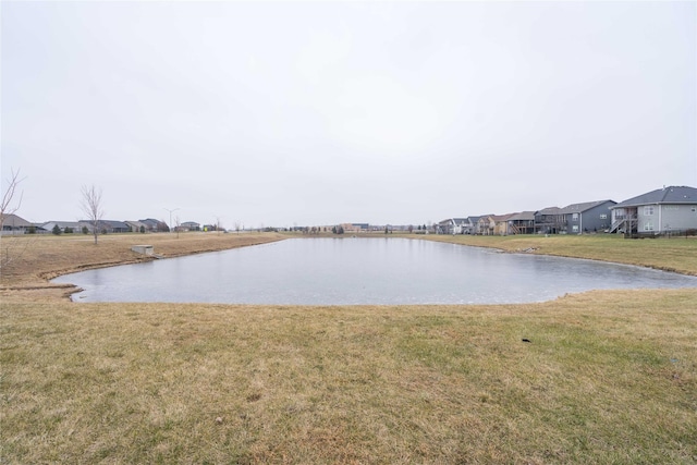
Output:
[[[697,186],[696,3],[0,5],[29,221],[420,224]],[[3,184],[4,187],[4,184]]]

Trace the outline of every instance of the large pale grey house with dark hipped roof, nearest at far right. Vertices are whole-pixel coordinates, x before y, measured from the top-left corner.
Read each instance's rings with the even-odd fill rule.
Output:
[[[611,232],[663,234],[697,229],[697,188],[669,186],[611,208]]]

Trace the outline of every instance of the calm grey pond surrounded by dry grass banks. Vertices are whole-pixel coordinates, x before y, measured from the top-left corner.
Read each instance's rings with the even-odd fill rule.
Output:
[[[295,238],[83,271],[77,302],[503,304],[594,289],[697,287],[645,268],[407,238]]]

